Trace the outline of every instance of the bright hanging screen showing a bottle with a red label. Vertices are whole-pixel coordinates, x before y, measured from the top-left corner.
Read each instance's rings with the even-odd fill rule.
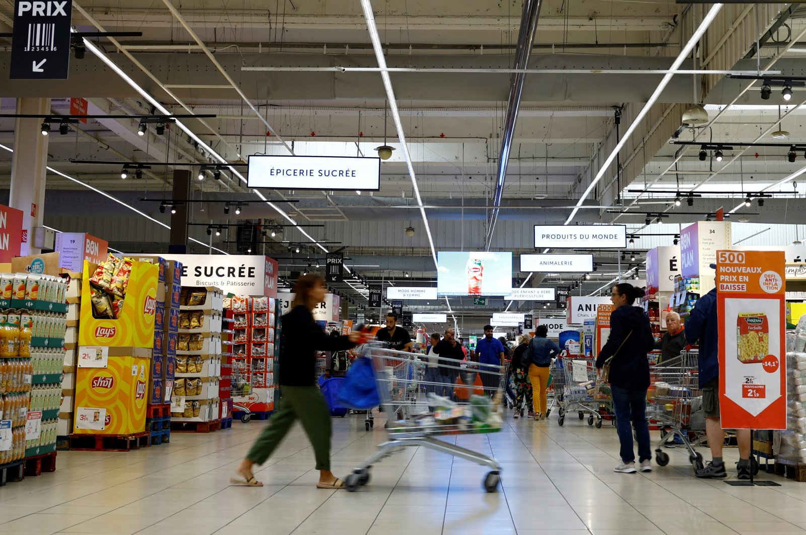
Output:
[[[505,296],[512,292],[512,253],[439,251],[440,296]]]

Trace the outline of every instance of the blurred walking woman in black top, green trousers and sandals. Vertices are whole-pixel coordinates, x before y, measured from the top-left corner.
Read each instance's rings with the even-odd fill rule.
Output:
[[[330,471],[330,409],[314,384],[316,351],[348,350],[363,342],[364,337],[358,332],[348,336],[328,336],[316,325],[311,312],[327,292],[322,277],[314,274],[301,276],[293,292],[291,312],[280,320],[280,405],[268,427],[260,433],[236,469],[239,477],[232,478],[231,483],[263,487],[263,483],[255,478],[252,467],[266,462],[294,421],[299,419],[314,448],[319,471],[317,488],[343,488],[344,482]]]

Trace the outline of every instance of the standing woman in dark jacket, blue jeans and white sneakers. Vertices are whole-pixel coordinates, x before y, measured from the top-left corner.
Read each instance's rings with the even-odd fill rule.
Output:
[[[596,359],[601,371],[610,361],[610,391],[616,413],[616,431],[621,443],[621,463],[614,469],[626,474],[635,473],[633,432],[638,439],[638,460],[643,472],[652,471],[650,429],[646,422],[646,391],[650,386],[650,366],[646,354],[654,348],[649,317],[643,309],[633,306],[644,296],[643,288],[621,283],[613,286],[610,301],[616,307],[610,313],[610,335]]]

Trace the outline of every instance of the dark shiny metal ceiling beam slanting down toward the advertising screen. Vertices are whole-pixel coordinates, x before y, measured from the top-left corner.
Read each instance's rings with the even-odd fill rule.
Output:
[[[534,34],[538,29],[538,18],[540,17],[540,6],[542,0],[525,0],[523,2],[523,12],[521,13],[521,30],[517,36],[517,49],[515,52],[516,69],[525,69],[529,66],[529,58],[532,54],[534,44]],[[523,82],[526,81],[526,73],[513,73],[509,78],[509,97],[506,106],[506,117],[504,119],[504,132],[501,135],[501,152],[498,157],[498,180],[496,182],[496,192],[492,197],[492,204],[496,208],[492,209],[487,226],[487,238],[484,240],[484,250],[488,251],[492,242],[492,235],[496,230],[498,221],[498,206],[501,205],[501,197],[504,194],[506,183],[506,168],[509,165],[509,151],[512,149],[512,139],[515,135],[515,123],[517,122],[517,110],[521,106],[521,94],[523,93]]]

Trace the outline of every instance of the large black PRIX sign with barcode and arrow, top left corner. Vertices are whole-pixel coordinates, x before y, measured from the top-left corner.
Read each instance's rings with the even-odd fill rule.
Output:
[[[67,80],[73,2],[17,0],[11,41],[11,80]]]

